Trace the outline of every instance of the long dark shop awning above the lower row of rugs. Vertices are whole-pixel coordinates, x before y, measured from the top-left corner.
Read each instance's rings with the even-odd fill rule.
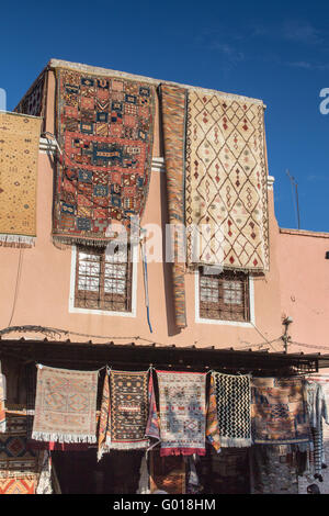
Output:
[[[124,369],[155,368],[191,370],[263,371],[269,373],[313,373],[329,368],[329,355],[237,350],[234,348],[181,347],[156,344],[95,344],[45,339],[0,338],[0,358],[41,362],[54,367]]]

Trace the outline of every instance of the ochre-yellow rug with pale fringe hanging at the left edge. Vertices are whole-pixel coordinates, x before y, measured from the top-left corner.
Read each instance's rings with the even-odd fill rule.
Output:
[[[0,112],[0,245],[31,247],[36,237],[41,119]]]

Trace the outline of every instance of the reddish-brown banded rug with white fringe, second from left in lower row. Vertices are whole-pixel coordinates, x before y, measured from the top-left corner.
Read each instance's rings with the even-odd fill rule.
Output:
[[[113,371],[110,373],[111,449],[135,450],[147,448],[145,436],[148,418],[148,371]]]

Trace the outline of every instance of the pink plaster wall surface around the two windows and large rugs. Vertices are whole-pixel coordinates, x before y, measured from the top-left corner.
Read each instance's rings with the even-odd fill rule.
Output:
[[[54,133],[54,77],[48,81],[47,131]],[[161,156],[157,109],[154,157]],[[1,248],[0,251],[0,327],[39,325],[83,334],[71,339],[131,343],[136,337],[152,343],[197,347],[215,346],[243,349],[280,338],[282,317],[294,318],[290,333],[294,340],[309,344],[328,343],[329,234],[324,236],[280,232],[274,214],[273,192],[269,190],[270,209],[270,272],[254,279],[254,325],[249,327],[195,322],[195,278],[185,276],[188,327],[181,333],[173,325],[173,303],[169,288],[168,265],[149,263],[150,334],[145,309],[141,262],[137,272],[136,317],[107,316],[94,313],[70,313],[71,249],[58,249],[52,242],[53,203],[52,161],[39,154],[37,188],[37,240],[32,249]],[[167,222],[166,176],[154,171],[141,225]],[[20,258],[21,256],[21,258]],[[19,269],[19,262],[21,268]],[[86,335],[86,336],[84,336]],[[20,335],[19,335],[20,336]],[[11,334],[13,338],[14,335]],[[26,335],[25,335],[26,337]],[[44,336],[43,336],[44,337]],[[43,338],[42,337],[42,338]],[[126,337],[116,340],[115,337]],[[65,337],[66,338],[66,337]],[[145,340],[145,344],[148,344]],[[283,343],[265,344],[270,351],[283,350]],[[256,348],[257,349],[257,348]],[[292,350],[292,349],[290,349]],[[295,348],[313,352],[315,349]],[[322,351],[325,352],[325,351]]]

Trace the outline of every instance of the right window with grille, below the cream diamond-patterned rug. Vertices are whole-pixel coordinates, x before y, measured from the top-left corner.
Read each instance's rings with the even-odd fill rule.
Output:
[[[243,272],[198,273],[200,317],[218,321],[250,321],[249,277]]]

